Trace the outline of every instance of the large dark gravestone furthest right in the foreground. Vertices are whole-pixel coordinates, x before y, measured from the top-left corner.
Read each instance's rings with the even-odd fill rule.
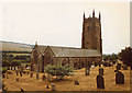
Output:
[[[116,73],[116,84],[124,84],[124,74],[120,71]]]

